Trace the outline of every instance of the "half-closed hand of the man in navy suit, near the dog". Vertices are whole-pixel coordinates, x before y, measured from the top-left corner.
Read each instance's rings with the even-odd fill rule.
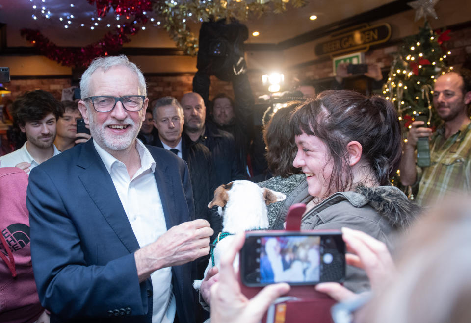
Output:
[[[178,266],[209,253],[213,230],[203,219],[171,227],[157,241],[134,253],[139,281],[164,267]]]

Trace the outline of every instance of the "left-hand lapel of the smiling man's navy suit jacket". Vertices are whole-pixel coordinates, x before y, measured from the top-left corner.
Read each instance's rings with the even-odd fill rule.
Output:
[[[109,226],[130,253],[137,250],[139,243],[132,231],[128,216],[92,140],[82,145],[77,166],[78,178]]]

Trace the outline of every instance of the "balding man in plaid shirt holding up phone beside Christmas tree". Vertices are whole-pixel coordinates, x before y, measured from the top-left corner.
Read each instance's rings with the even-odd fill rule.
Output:
[[[420,205],[429,205],[452,192],[471,193],[471,71],[461,69],[441,75],[435,82],[433,104],[443,120],[435,133],[414,121],[403,148],[400,166],[403,185],[419,183],[416,197]],[[428,167],[416,167],[419,137],[430,138]]]

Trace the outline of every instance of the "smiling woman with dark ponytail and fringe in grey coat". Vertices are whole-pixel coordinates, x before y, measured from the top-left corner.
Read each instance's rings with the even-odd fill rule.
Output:
[[[419,208],[389,178],[401,158],[401,127],[392,104],[348,90],[324,91],[290,117],[307,187],[287,194],[284,222],[294,203],[306,203],[302,229],[361,230],[392,249],[392,233],[407,227]],[[345,286],[368,289],[366,273],[348,266]]]

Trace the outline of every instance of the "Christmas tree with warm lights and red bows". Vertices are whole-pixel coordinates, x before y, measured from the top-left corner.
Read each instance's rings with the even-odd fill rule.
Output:
[[[443,42],[449,39],[448,32],[439,35],[425,22],[418,34],[404,39],[394,57],[382,90],[383,96],[397,109],[404,126],[404,141],[407,141],[410,124],[419,115],[425,115],[432,128],[440,123],[432,110],[433,84],[447,70],[445,59],[450,52],[443,48]],[[393,185],[400,186],[399,175],[398,171],[398,175],[392,178]]]

